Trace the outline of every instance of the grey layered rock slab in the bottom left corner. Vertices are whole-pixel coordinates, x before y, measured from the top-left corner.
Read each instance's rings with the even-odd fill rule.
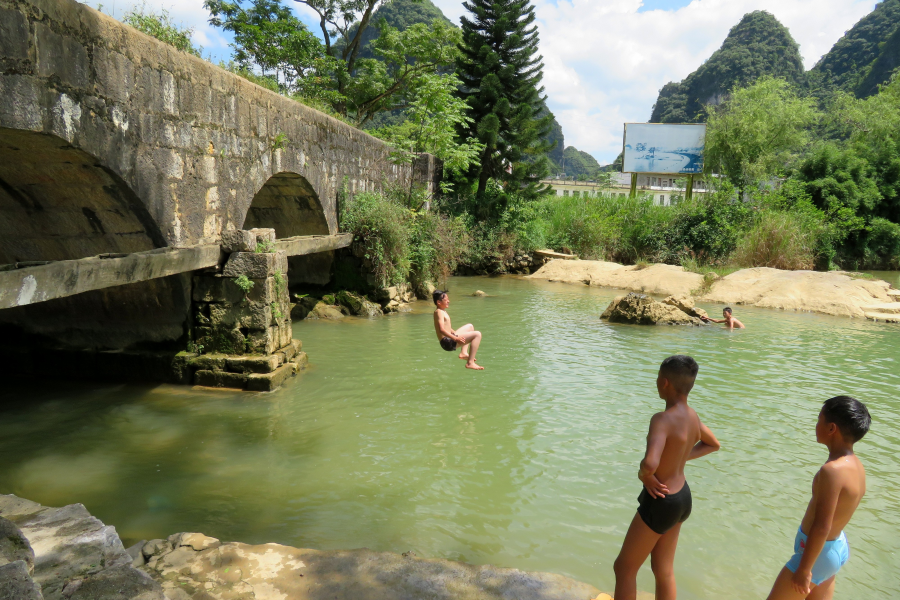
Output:
[[[34,549],[33,580],[45,600],[166,600],[160,585],[132,566],[116,529],[83,505],[50,508],[0,495],[0,516]]]

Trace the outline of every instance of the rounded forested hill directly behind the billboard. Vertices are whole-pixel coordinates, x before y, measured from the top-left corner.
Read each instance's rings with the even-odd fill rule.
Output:
[[[799,86],[806,84],[800,49],[788,29],[770,13],[755,11],[744,15],[722,47],[699,69],[660,90],[650,121],[702,120],[706,104],[718,104],[735,85],[746,85],[763,75],[783,77]]]

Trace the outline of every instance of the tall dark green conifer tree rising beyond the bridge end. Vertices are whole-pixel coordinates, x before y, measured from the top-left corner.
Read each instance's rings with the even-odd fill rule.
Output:
[[[546,191],[540,180],[549,173],[544,141],[553,116],[541,117],[543,57],[531,0],[468,0],[462,18],[462,54],[457,74],[473,122],[463,137],[485,145],[481,164],[470,172],[484,200],[490,178],[509,193],[526,197]]]

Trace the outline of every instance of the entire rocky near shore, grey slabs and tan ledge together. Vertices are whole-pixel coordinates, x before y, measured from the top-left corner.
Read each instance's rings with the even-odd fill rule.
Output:
[[[81,504],[0,495],[0,600],[611,600],[556,575],[176,533],[126,549]]]

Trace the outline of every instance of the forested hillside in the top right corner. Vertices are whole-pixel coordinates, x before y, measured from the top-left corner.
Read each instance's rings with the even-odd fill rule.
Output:
[[[860,19],[810,70],[817,95],[841,90],[864,98],[877,92],[898,66],[898,26],[900,0],[885,0]]]

